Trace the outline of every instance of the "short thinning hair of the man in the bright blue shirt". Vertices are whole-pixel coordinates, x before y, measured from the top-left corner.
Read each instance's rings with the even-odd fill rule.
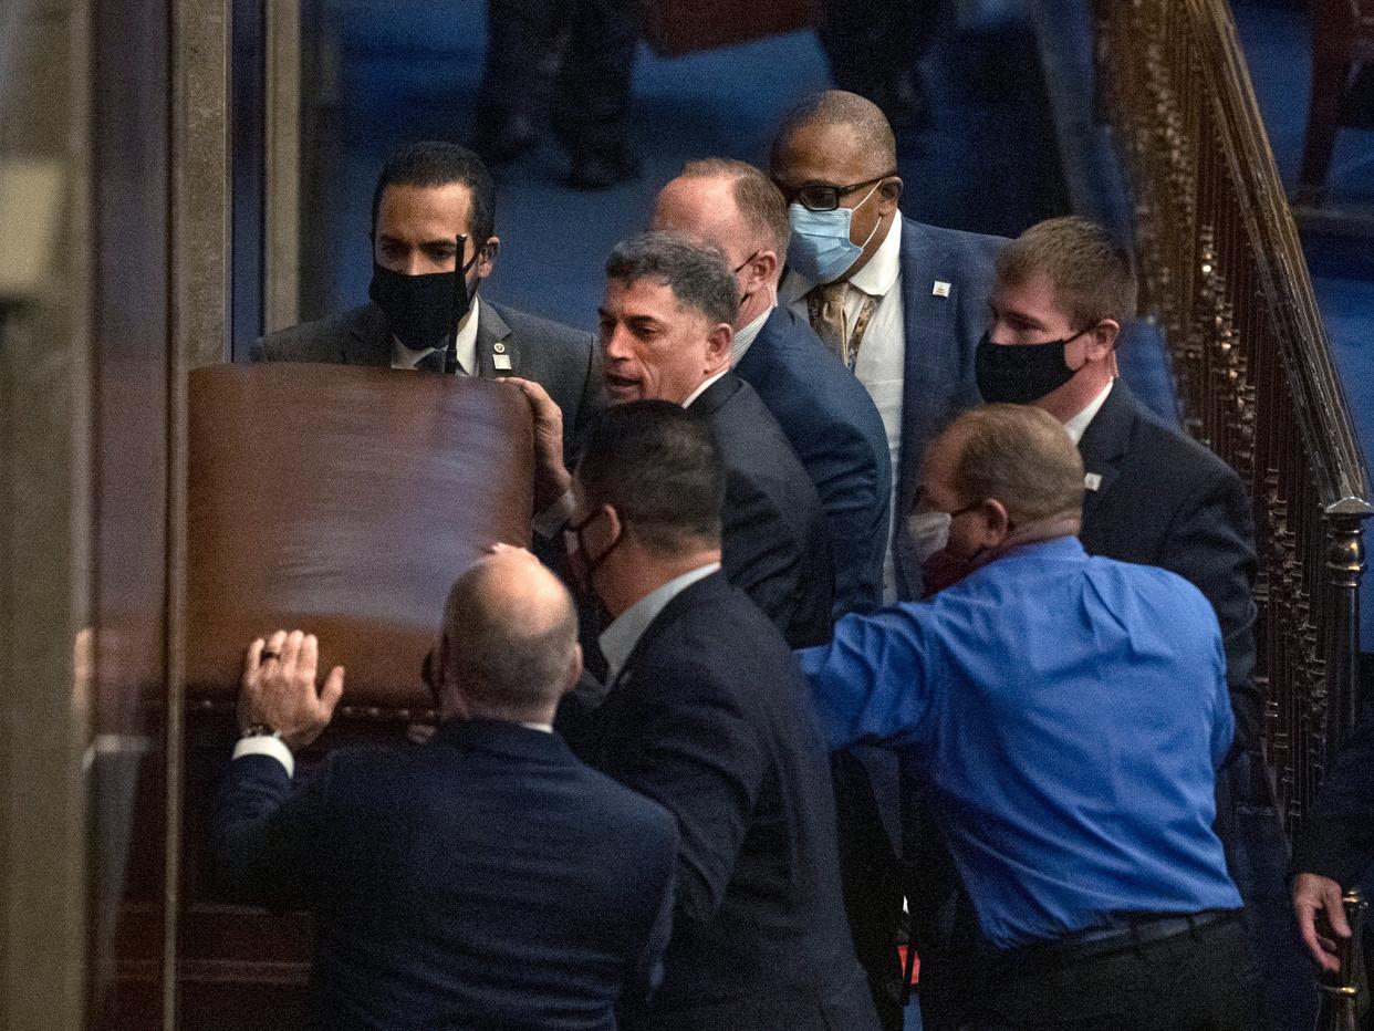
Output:
[[[951,484],[965,505],[996,499],[1013,522],[1077,513],[1083,459],[1063,425],[1041,408],[984,404],[940,434],[959,447]]]

